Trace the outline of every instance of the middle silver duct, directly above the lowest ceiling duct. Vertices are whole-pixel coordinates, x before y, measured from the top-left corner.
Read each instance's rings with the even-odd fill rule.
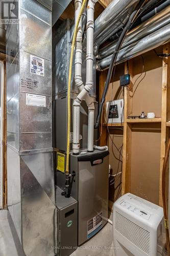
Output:
[[[143,38],[144,36],[147,36],[158,29],[166,26],[170,23],[170,7],[167,7],[165,10],[161,11],[154,17],[150,18],[146,22],[142,23],[138,27],[131,30],[127,37],[125,38],[125,41],[122,45],[122,49],[133,44],[133,42],[138,41],[139,39]],[[99,51],[99,54],[97,58],[103,59],[107,56],[111,55],[116,48],[116,42],[112,42],[108,46],[102,48]]]

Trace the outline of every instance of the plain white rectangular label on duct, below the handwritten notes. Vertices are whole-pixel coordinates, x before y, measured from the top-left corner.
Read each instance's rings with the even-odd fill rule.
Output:
[[[28,106],[46,106],[46,97],[42,95],[26,93],[26,104]]]

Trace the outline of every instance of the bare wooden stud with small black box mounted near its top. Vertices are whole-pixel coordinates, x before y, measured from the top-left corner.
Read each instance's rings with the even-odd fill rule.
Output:
[[[125,74],[129,66],[131,83],[124,89],[124,139],[123,139],[123,168],[122,168],[122,195],[131,191],[131,144],[132,144],[132,124],[127,122],[129,115],[132,115],[132,95],[133,95],[133,60],[125,62]]]

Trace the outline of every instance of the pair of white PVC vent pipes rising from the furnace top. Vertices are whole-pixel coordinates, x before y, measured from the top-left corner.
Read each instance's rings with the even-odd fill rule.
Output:
[[[73,144],[72,150],[74,154],[79,154],[80,149],[80,104],[85,99],[88,106],[88,151],[93,151],[94,138],[94,103],[89,96],[89,92],[93,87],[93,33],[94,33],[94,4],[96,1],[89,0],[87,5],[87,62],[86,62],[86,85],[84,87],[82,81],[82,19],[80,20],[79,30],[76,38],[76,56],[75,56],[75,83],[80,93],[74,101],[74,124],[73,124]],[[82,0],[75,1],[75,23],[82,6]]]

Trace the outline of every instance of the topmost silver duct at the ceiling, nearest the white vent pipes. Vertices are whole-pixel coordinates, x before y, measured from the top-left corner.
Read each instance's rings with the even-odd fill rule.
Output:
[[[114,0],[109,6],[102,12],[102,14],[96,18],[94,23],[94,38],[96,38],[107,26],[124,10],[127,10],[132,5],[136,4],[138,0]]]

